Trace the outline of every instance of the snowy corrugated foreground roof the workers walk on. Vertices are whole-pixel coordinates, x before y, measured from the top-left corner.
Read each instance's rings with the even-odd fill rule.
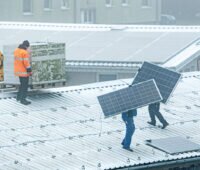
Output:
[[[187,73],[172,98],[161,105],[170,123],[152,127],[147,108],[138,109],[134,152],[121,148],[121,116],[104,119],[97,96],[127,87],[131,79],[29,93],[32,104],[1,93],[0,169],[109,169],[197,157],[200,152],[169,155],[145,145],[147,139],[181,136],[200,144],[200,73]]]

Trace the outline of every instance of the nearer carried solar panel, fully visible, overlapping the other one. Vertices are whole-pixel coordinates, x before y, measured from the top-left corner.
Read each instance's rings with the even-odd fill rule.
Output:
[[[153,79],[98,96],[105,117],[162,100]]]

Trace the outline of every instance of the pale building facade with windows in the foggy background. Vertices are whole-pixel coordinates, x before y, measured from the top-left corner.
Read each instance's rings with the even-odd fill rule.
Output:
[[[161,13],[159,0],[7,0],[0,6],[0,21],[144,24],[158,23]]]

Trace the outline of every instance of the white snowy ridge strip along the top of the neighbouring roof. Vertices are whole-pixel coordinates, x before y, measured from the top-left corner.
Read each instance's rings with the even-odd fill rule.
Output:
[[[0,22],[2,29],[31,29],[31,30],[66,30],[66,31],[142,31],[142,32],[199,32],[200,26],[176,25],[104,25],[104,24],[70,24],[42,22]]]

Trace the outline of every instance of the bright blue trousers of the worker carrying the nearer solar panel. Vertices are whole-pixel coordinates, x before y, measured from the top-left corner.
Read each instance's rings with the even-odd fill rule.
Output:
[[[135,124],[133,121],[133,117],[123,117],[123,121],[126,124],[126,135],[122,141],[123,148],[130,148],[131,145],[131,139],[133,136],[133,133],[135,132]]]

